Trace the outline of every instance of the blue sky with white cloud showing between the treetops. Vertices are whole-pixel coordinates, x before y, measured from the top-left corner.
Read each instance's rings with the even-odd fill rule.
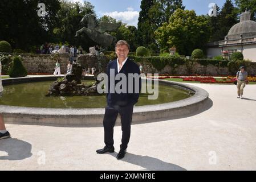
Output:
[[[79,1],[84,0],[69,0]],[[140,12],[140,0],[87,0],[95,6],[98,17],[109,15],[122,20],[124,23],[137,27],[137,19]],[[222,7],[225,0],[183,0],[187,10],[196,10],[197,15],[207,14],[210,8],[209,3],[216,3]]]

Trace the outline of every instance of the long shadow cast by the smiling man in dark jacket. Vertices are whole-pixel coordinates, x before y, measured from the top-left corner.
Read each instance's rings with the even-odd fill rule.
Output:
[[[111,153],[113,157],[116,157],[117,153]],[[177,166],[175,164],[164,162],[160,159],[152,158],[150,156],[142,156],[128,153],[121,159],[124,162],[131,163],[137,166],[145,168],[150,171],[186,171],[185,168]]]

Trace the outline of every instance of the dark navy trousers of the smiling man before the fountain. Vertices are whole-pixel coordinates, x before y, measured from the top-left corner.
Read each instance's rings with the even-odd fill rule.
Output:
[[[118,113],[121,117],[122,129],[122,143],[120,145],[120,149],[125,150],[131,136],[133,105],[105,107],[105,115],[103,120],[104,142],[106,146],[113,146],[114,144],[113,133]]]

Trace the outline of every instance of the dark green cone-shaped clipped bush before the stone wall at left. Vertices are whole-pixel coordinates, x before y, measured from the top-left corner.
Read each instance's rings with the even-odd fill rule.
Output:
[[[10,77],[25,77],[27,76],[27,70],[22,64],[21,56],[13,57],[13,67],[10,69]]]

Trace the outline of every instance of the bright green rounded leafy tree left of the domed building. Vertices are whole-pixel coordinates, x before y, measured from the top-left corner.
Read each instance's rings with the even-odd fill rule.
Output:
[[[177,9],[155,32],[162,50],[176,47],[180,55],[191,55],[195,48],[205,48],[209,41],[210,27],[206,16],[197,16],[194,10]]]

